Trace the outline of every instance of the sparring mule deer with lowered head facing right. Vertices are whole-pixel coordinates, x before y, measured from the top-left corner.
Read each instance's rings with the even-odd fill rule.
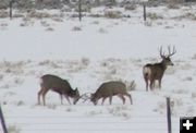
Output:
[[[78,89],[76,88],[75,90],[72,89],[70,83],[65,80],[62,80],[59,76],[56,75],[50,75],[46,74],[40,77],[41,83],[40,83],[40,90],[38,92],[38,105],[40,105],[40,96],[42,96],[42,101],[44,106],[46,106],[46,94],[48,90],[53,90],[60,95],[61,98],[61,105],[63,104],[63,96],[66,98],[69,104],[71,104],[69,97],[73,98],[73,104],[79,98],[79,93]]]

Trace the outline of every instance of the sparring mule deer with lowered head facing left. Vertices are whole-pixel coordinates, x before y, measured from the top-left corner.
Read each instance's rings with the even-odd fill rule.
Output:
[[[103,105],[105,99],[109,97],[109,101],[111,105],[112,96],[114,95],[118,95],[122,99],[123,105],[125,104],[124,95],[130,98],[131,105],[133,104],[132,96],[126,90],[126,85],[118,81],[102,83],[96,90],[96,93],[91,94],[90,101],[93,101],[94,105],[97,105],[98,100],[102,98],[101,105]]]

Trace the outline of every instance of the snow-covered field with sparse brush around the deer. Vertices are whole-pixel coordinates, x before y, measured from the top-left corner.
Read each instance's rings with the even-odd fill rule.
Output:
[[[196,116],[195,9],[149,8],[147,22],[142,7],[113,9],[131,17],[87,13],[82,22],[72,13],[47,10],[52,17],[0,19],[0,102],[10,133],[166,133],[166,97],[172,100],[172,131],[179,133],[180,117]],[[161,46],[166,53],[175,46],[174,66],[166,71],[161,90],[146,92],[142,69],[161,60]],[[39,106],[39,77],[48,73],[68,80],[81,94],[94,93],[106,81],[127,86],[134,81],[128,90],[133,105],[118,97],[111,106],[108,99],[103,106],[65,99],[61,105],[59,95],[49,92],[47,106]]]

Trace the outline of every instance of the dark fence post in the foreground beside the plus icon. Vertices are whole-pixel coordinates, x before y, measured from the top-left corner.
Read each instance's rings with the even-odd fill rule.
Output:
[[[171,125],[171,108],[170,108],[170,97],[167,97],[167,119],[168,119],[168,133],[172,133]]]

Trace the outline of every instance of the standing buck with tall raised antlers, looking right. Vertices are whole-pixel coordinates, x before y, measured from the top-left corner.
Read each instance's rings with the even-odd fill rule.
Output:
[[[155,87],[155,81],[158,80],[159,82],[159,88],[161,88],[161,80],[164,74],[164,71],[167,70],[168,65],[174,65],[173,62],[171,61],[171,57],[176,52],[175,47],[173,47],[173,51],[171,52],[170,47],[168,47],[169,55],[166,56],[162,53],[162,47],[160,48],[160,57],[162,59],[161,62],[159,63],[148,63],[144,65],[143,68],[143,75],[144,80],[146,82],[146,90],[148,90],[148,81],[150,82],[149,87],[152,90]]]

